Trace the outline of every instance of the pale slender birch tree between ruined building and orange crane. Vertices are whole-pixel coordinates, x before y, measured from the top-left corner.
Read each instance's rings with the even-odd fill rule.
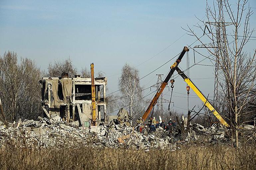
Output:
[[[119,78],[119,89],[123,95],[122,105],[128,108],[131,117],[135,118],[142,111],[142,88],[140,86],[139,70],[125,64]],[[126,107],[128,105],[128,107]]]

